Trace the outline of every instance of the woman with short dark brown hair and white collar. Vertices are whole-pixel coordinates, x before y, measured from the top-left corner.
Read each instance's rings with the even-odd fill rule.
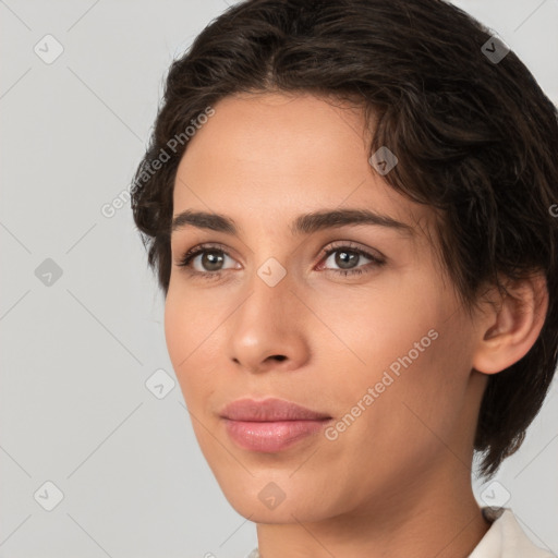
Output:
[[[438,0],[248,0],[173,62],[134,218],[253,556],[551,556],[471,472],[556,369],[557,150],[531,73]]]

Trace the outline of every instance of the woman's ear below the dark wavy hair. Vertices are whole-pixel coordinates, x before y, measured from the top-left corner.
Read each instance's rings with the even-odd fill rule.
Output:
[[[504,281],[507,294],[492,289],[492,300],[478,315],[478,341],[473,367],[484,374],[501,372],[520,361],[543,329],[548,288],[543,272],[519,281]],[[497,294],[498,293],[498,294]]]

